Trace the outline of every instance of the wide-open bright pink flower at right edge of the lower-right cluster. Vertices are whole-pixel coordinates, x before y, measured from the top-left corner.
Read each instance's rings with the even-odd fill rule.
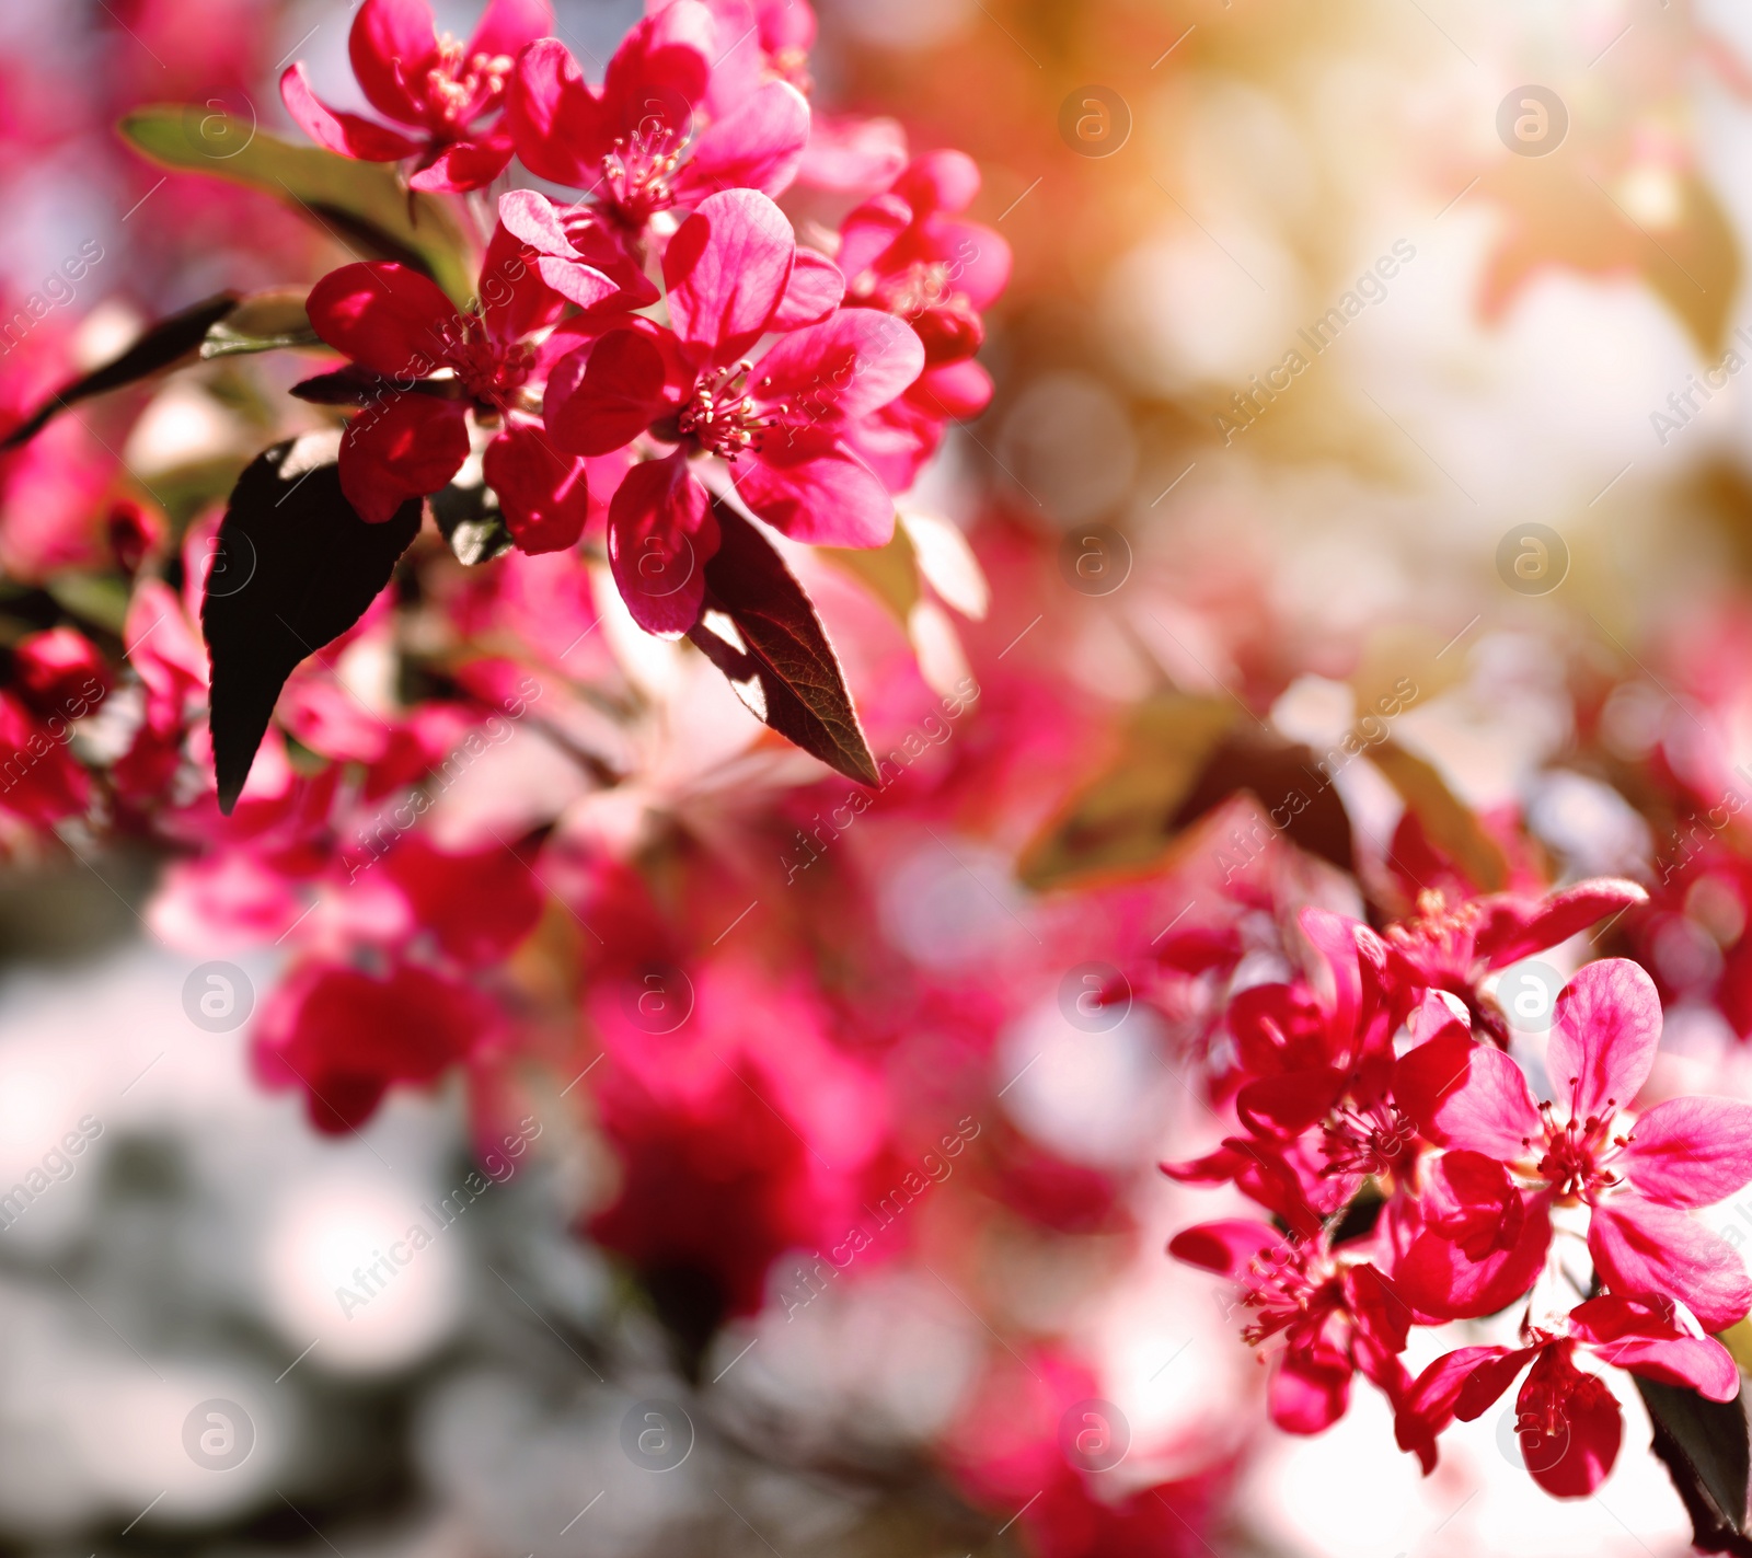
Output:
[[[1508,1055],[1463,1034],[1409,1052],[1395,1095],[1430,1141],[1505,1165],[1551,1204],[1586,1204],[1587,1248],[1614,1292],[1671,1293],[1726,1330],[1752,1307],[1752,1281],[1685,1211],[1752,1179],[1752,1104],[1684,1097],[1626,1115],[1659,1037],[1649,974],[1605,959],[1558,997],[1545,1052],[1556,1101],[1535,1104]]]

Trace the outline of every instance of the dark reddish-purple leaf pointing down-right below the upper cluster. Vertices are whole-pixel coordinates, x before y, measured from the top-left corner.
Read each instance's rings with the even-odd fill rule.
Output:
[[[711,506],[722,542],[687,636],[755,719],[846,778],[880,785],[839,657],[802,585],[746,519],[717,498]]]

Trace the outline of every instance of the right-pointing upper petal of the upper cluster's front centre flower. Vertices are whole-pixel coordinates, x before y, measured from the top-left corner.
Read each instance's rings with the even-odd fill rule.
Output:
[[[755,368],[762,401],[785,401],[787,426],[860,417],[888,405],[925,366],[925,347],[904,319],[878,308],[839,308],[794,329]]]

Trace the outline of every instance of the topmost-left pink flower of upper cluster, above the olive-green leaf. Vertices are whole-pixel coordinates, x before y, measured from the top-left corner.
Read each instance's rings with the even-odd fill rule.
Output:
[[[517,56],[552,28],[548,0],[491,0],[461,44],[438,37],[426,0],[364,0],[347,39],[352,74],[371,107],[408,128],[329,109],[303,61],[280,77],[280,98],[317,145],[366,163],[417,158],[415,189],[478,189],[512,159],[510,135],[482,121],[499,110]]]

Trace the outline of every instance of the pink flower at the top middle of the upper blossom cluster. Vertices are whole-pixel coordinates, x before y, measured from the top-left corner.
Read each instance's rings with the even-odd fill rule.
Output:
[[[809,138],[809,105],[783,81],[741,74],[746,91],[727,102],[713,61],[734,42],[699,0],[675,0],[627,33],[594,91],[566,46],[543,39],[517,61],[506,98],[519,158],[590,191],[632,237],[713,191],[781,193]],[[696,121],[706,121],[697,135]]]

